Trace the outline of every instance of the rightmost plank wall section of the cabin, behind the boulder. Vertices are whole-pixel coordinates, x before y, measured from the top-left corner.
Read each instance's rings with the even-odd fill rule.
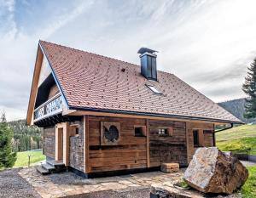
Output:
[[[187,153],[188,153],[188,163],[192,160],[192,157],[195,153],[197,147],[194,147],[194,138],[193,138],[193,130],[198,129],[200,132],[203,130],[214,130],[213,123],[201,123],[201,122],[187,122]],[[203,145],[204,146],[213,146],[212,133],[204,133],[203,134]]]

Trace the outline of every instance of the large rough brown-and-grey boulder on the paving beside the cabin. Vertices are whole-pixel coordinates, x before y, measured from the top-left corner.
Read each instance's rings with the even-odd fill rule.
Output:
[[[204,193],[231,194],[247,178],[247,168],[230,152],[221,152],[216,147],[197,149],[184,173],[184,180]]]

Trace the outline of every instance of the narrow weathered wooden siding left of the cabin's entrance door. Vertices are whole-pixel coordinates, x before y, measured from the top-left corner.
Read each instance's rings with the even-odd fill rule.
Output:
[[[44,127],[44,155],[55,159],[55,127]]]

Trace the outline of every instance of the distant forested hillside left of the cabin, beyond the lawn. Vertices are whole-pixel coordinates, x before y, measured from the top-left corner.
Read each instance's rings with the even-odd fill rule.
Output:
[[[43,145],[42,130],[35,126],[26,126],[26,120],[9,122],[9,127],[14,129],[15,151],[41,149]]]

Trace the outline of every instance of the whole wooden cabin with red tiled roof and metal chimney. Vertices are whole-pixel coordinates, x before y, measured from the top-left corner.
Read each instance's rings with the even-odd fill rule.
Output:
[[[241,123],[177,76],[157,71],[156,51],[141,65],[38,42],[26,122],[44,128],[49,173],[62,165],[90,177],[188,166],[214,146],[214,128]],[[172,65],[170,65],[172,66]]]

